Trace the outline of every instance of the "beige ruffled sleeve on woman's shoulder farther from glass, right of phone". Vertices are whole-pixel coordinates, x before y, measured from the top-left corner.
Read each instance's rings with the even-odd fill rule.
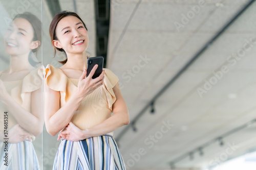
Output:
[[[108,68],[103,68],[105,70],[104,76],[104,90],[106,93],[106,99],[108,100],[109,109],[113,111],[112,105],[116,101],[116,95],[113,91],[113,87],[117,84],[118,78],[117,76]]]

